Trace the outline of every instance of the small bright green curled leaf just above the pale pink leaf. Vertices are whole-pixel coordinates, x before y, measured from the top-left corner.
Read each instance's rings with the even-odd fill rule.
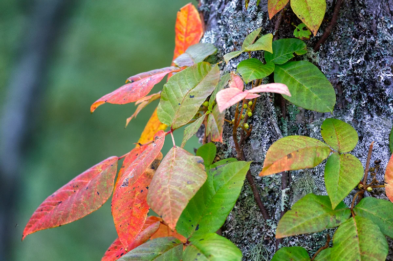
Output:
[[[250,58],[241,61],[237,66],[237,71],[242,75],[243,80],[249,83],[252,80],[269,76],[274,71],[274,63],[263,64],[256,58]]]

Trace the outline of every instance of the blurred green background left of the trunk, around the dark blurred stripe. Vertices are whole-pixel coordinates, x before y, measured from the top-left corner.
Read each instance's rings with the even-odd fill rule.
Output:
[[[62,6],[23,126],[23,157],[17,163],[12,196],[15,212],[7,223],[7,234],[2,235],[7,243],[7,252],[2,254],[5,260],[100,260],[115,240],[110,199],[79,221],[36,232],[20,242],[31,214],[48,195],[85,169],[135,146],[158,101],[127,128],[125,119],[135,111],[134,104],[104,104],[92,115],[90,105],[123,85],[129,76],[170,66],[176,14],[189,2],[96,0]],[[0,110],[9,99],[10,86],[15,86],[12,75],[25,52],[25,37],[35,30],[31,19],[36,4],[0,1]],[[17,88],[24,81],[19,78]],[[152,92],[159,91],[163,83]],[[12,127],[8,128],[12,131]],[[182,130],[175,136],[180,144]],[[171,145],[167,137],[164,155]],[[186,149],[192,152],[198,146],[193,137]],[[1,192],[0,196],[7,197]]]

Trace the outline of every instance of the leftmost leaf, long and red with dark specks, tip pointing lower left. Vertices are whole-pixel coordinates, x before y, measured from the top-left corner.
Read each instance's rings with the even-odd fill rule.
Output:
[[[36,231],[71,223],[99,209],[111,196],[118,157],[89,168],[39,205],[23,231],[22,240]]]

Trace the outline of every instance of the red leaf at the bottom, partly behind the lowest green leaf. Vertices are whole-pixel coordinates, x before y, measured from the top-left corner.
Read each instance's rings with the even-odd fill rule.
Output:
[[[150,216],[149,216],[150,217]],[[160,221],[154,220],[154,222],[149,222],[146,220],[145,225],[142,228],[142,231],[139,233],[137,238],[133,241],[133,243],[129,244],[128,251],[133,250],[136,247],[139,247],[143,243],[149,240],[150,236],[157,232],[160,227]],[[123,248],[119,238],[112,243],[112,245],[106,250],[104,256],[101,261],[115,261],[119,259],[122,255],[127,253]]]

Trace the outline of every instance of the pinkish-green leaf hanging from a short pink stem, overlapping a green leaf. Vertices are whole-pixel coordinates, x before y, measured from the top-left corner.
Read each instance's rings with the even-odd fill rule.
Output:
[[[203,159],[172,147],[151,181],[147,202],[173,231],[188,202],[205,183]]]

